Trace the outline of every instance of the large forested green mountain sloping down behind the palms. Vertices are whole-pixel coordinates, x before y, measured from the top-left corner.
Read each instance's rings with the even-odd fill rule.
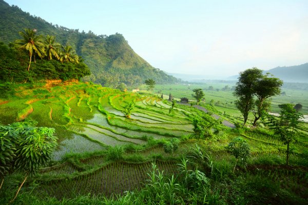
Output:
[[[95,35],[78,29],[52,25],[46,20],[32,16],[17,6],[10,6],[0,0],[0,41],[5,44],[20,39],[18,34],[24,28],[36,29],[38,34],[56,36],[62,45],[69,44],[82,56],[91,70],[85,80],[104,86],[117,86],[120,83],[140,85],[152,78],[156,83],[175,83],[177,78],[152,67],[135,53],[122,34]]]

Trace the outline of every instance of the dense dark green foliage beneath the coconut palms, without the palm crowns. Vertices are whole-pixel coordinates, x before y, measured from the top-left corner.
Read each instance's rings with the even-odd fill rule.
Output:
[[[44,79],[81,79],[89,75],[90,71],[87,65],[83,63],[60,63],[60,61],[51,59],[39,59],[31,65],[28,72],[23,68],[26,65],[27,57],[17,48],[8,48],[0,44],[0,81],[8,83],[24,83],[39,81]]]

